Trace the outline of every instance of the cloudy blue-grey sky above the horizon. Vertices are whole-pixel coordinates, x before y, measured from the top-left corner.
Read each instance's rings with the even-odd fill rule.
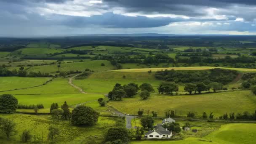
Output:
[[[0,0],[0,36],[256,35],[256,0]]]

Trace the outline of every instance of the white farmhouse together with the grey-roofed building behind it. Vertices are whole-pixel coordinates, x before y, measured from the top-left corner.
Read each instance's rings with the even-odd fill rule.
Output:
[[[171,117],[167,119],[163,119],[161,124],[157,124],[155,130],[149,131],[145,134],[145,138],[147,139],[168,139],[173,136],[172,131],[168,131],[167,128],[163,128],[163,124],[168,124],[168,123],[175,123],[175,120],[173,120]]]

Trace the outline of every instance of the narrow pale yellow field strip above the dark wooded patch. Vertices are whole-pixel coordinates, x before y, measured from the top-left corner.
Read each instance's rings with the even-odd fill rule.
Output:
[[[152,72],[157,72],[161,70],[207,70],[207,69],[216,69],[216,68],[221,68],[221,69],[232,69],[232,70],[237,70],[241,72],[256,72],[256,69],[243,69],[243,68],[229,68],[229,67],[163,67],[163,68],[146,68],[146,69],[118,69],[118,70],[113,70],[116,72],[147,72],[151,70]]]

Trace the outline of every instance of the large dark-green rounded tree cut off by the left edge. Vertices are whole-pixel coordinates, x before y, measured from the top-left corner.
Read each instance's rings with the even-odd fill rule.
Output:
[[[18,106],[18,100],[11,94],[0,96],[0,111],[15,112]]]

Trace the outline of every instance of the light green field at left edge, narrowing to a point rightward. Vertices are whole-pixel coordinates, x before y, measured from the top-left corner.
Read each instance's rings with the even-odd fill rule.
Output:
[[[42,85],[50,79],[49,77],[0,77],[0,91]]]

